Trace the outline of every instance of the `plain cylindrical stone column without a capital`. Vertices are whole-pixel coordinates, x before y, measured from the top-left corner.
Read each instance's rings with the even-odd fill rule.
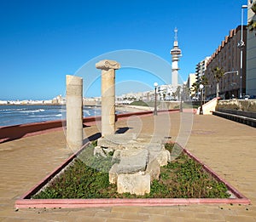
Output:
[[[67,146],[83,145],[83,78],[66,76]]]

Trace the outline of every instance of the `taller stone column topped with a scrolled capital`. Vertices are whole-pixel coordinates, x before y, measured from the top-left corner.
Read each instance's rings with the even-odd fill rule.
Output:
[[[120,64],[113,60],[101,60],[96,68],[102,70],[102,137],[115,132],[115,70]]]

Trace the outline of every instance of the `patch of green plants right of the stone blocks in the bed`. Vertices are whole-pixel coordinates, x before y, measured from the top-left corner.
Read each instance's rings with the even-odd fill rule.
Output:
[[[172,148],[173,145],[166,144],[166,149],[171,153]],[[200,163],[195,162],[183,152],[161,168],[160,181],[154,181],[151,192],[150,197],[227,198],[230,196],[223,183],[213,179]]]

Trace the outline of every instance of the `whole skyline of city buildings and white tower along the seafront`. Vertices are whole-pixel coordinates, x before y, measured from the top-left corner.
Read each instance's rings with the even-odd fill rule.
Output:
[[[157,100],[211,100],[217,94],[220,98],[242,99],[256,98],[256,26],[255,0],[247,5],[247,26],[237,26],[230,30],[212,55],[205,56],[195,65],[195,73],[189,73],[187,81],[177,84],[181,49],[177,43],[177,28],[172,55],[172,84],[158,85],[155,88]],[[256,3],[255,3],[256,4]],[[254,22],[254,23],[253,23]],[[221,71],[216,75],[214,69]],[[218,76],[218,77],[217,77]],[[218,92],[217,92],[218,91]],[[154,100],[154,89],[147,92],[135,92],[116,96],[116,103],[129,104],[132,100]],[[84,98],[84,104],[100,103],[101,98]],[[63,105],[65,97],[56,96],[52,100],[0,100],[0,105]]]

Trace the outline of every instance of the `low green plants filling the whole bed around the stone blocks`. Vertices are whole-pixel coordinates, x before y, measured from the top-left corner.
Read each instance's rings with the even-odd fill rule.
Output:
[[[53,179],[43,191],[32,196],[42,198],[226,198],[226,186],[213,179],[201,167],[190,159],[178,146],[166,144],[172,157],[171,163],[161,168],[160,180],[154,180],[150,193],[144,196],[130,193],[118,194],[116,185],[108,183],[108,169],[112,157],[93,157],[94,145],[85,149],[79,158],[58,177]],[[179,155],[180,154],[180,155]]]

